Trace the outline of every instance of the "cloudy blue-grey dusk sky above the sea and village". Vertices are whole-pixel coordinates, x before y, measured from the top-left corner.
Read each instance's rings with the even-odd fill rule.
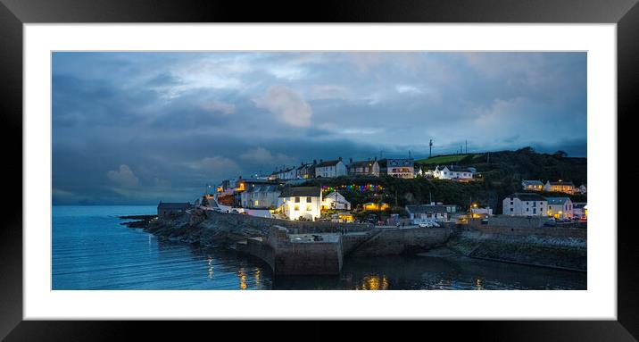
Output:
[[[586,155],[585,53],[55,52],[54,204],[193,201],[342,157]]]

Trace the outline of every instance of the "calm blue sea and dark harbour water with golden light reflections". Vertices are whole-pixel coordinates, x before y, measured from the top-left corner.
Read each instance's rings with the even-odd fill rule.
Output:
[[[155,206],[54,206],[53,289],[585,289],[585,273],[475,259],[347,260],[334,277],[278,277],[245,254],[120,225]]]

